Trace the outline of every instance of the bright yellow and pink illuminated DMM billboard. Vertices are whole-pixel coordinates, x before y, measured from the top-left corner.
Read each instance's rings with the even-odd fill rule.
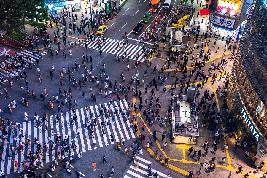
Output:
[[[241,0],[218,0],[215,11],[237,16]]]

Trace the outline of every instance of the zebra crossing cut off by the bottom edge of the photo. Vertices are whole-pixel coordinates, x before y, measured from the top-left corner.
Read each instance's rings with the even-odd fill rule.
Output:
[[[145,178],[145,177],[147,177],[147,175],[148,175],[148,171],[147,171],[148,166],[147,165],[151,164],[151,162],[148,160],[145,160],[139,156],[136,157],[136,160],[139,160],[139,167],[137,168],[135,165],[131,165],[130,168],[124,174],[124,176],[123,176],[124,178],[134,178],[134,177]],[[136,163],[136,161],[135,161],[135,163]],[[149,176],[149,177],[153,177],[153,175],[156,172],[158,173],[158,178],[166,178],[167,177],[166,174],[163,174],[163,173],[161,173],[155,169],[151,169],[152,176]]]

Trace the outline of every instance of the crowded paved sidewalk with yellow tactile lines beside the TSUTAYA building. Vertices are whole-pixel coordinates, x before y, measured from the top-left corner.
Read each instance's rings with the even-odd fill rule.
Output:
[[[200,1],[199,1],[200,2]],[[187,5],[190,5],[190,1],[187,2]],[[199,7],[199,4],[196,4],[196,2],[194,3],[194,6],[193,8],[196,8],[196,11],[195,11],[195,15],[198,13],[198,11],[202,8]],[[203,24],[201,24],[201,20],[202,18],[204,19],[203,21]],[[206,26],[205,26],[205,20],[206,20],[206,17],[205,16],[199,16],[198,18],[196,16],[194,16],[194,19],[196,20],[196,25],[197,25],[197,22],[198,20],[200,21],[200,34],[202,34],[203,32],[205,33],[207,30],[206,30]],[[196,26],[195,25],[195,26]],[[192,24],[192,26],[194,26]],[[193,36],[190,36],[188,41],[192,41],[191,38],[193,38]],[[215,38],[214,37],[211,37],[211,38],[208,38],[210,39],[210,45],[209,46],[204,46],[204,50],[207,51],[209,49],[212,50],[212,53],[211,53],[211,59],[207,62],[207,66],[209,66],[209,62],[210,61],[213,61],[215,60],[216,63],[218,63],[220,60],[221,60],[221,57],[222,57],[222,54],[224,52],[224,49],[225,49],[225,41],[222,41],[221,39],[217,40],[216,42],[216,47],[214,48],[213,47],[213,42],[215,41]],[[207,40],[208,40],[207,39]],[[193,41],[192,41],[193,42]],[[190,44],[190,47],[193,47],[192,45],[192,42]],[[160,43],[159,45],[162,50],[162,46],[163,46],[163,43]],[[219,47],[219,52],[218,53],[215,53],[215,50],[216,48]],[[201,48],[200,48],[201,49]],[[197,52],[200,51],[200,49],[195,49],[194,50],[194,55],[196,56]],[[233,49],[233,48],[232,48]],[[161,66],[163,66],[163,64],[165,64],[166,62],[166,58],[168,57],[168,49],[166,48],[165,51],[162,50],[162,57],[159,58],[158,57],[158,53],[155,53],[153,55],[153,63],[151,65],[151,68],[153,68],[154,66],[157,66],[158,64],[158,71],[160,71],[160,68]],[[226,51],[225,53],[225,58],[228,59],[228,57],[230,56],[230,53],[231,51]],[[192,54],[190,54],[190,57],[192,56]],[[190,64],[191,60],[190,60],[190,57],[189,57],[189,61],[188,61],[188,64]],[[158,63],[157,63],[158,61]],[[233,61],[230,61],[228,60],[228,65],[226,66],[225,68],[225,71],[228,71],[228,72],[231,72],[231,69],[232,69],[232,65],[233,65]],[[165,72],[168,72],[168,71],[171,71],[171,74],[172,74],[172,71],[174,71],[175,69],[177,69],[177,65],[175,65],[173,62],[171,64],[172,66],[172,69],[166,69]],[[187,69],[189,67],[187,66]],[[204,69],[206,71],[206,69]],[[179,71],[179,69],[178,69]],[[214,71],[214,72],[217,72]],[[166,73],[163,73],[163,74],[166,74]],[[170,75],[171,75],[170,74]],[[218,73],[219,75],[217,75],[217,77],[220,76],[220,72]],[[181,75],[181,73],[178,73],[178,78],[179,76]],[[204,85],[203,88],[201,88],[200,90],[200,93],[201,93],[201,96],[203,95],[203,92],[204,90],[210,90],[211,92],[214,92],[215,93],[215,90],[218,86],[222,86],[224,85],[226,82],[226,80],[224,78],[222,78],[222,80],[218,80],[212,85],[211,81],[208,80],[208,82]],[[191,84],[192,85],[192,84]],[[167,86],[168,87],[168,86]],[[174,94],[176,94],[179,90],[179,86],[177,87],[176,91],[174,90]],[[149,90],[150,91],[150,90]],[[149,92],[148,91],[148,92]],[[167,91],[168,92],[168,89]],[[163,93],[162,93],[163,94]],[[145,96],[145,98],[148,98],[150,94],[147,94],[147,96]],[[161,95],[160,95],[161,96]],[[164,95],[165,96],[165,95]],[[200,97],[201,97],[200,96]],[[144,97],[142,97],[144,98]],[[220,98],[220,97],[219,97]],[[216,94],[216,97],[213,99],[212,102],[216,101],[217,103],[217,107],[216,108],[216,113],[218,111],[220,111],[221,113],[224,112],[221,108],[222,104],[223,104],[223,101],[222,99],[219,99],[217,94]],[[167,112],[167,108],[169,106],[169,97],[168,99],[166,99],[164,101],[164,108],[161,109],[160,113],[161,115],[163,113],[166,113]],[[138,113],[138,112],[137,112]],[[137,119],[137,122],[138,123],[142,123],[144,121],[144,118],[142,118],[142,110],[141,110],[141,113],[139,114],[140,119],[138,118]],[[199,122],[201,122],[202,118],[199,119]],[[140,125],[139,124],[139,125]],[[222,125],[218,124],[218,127],[222,127]],[[227,137],[226,138],[226,142],[222,142],[220,144],[217,145],[218,147],[218,150],[216,152],[216,155],[212,154],[212,149],[213,149],[213,136],[214,136],[214,133],[215,132],[212,132],[212,134],[208,134],[208,130],[206,130],[206,128],[200,128],[200,137],[196,139],[196,145],[190,145],[190,144],[171,144],[170,143],[170,140],[168,138],[168,134],[169,134],[169,128],[163,128],[163,127],[159,127],[159,124],[158,123],[155,123],[153,125],[153,128],[152,126],[147,126],[146,125],[146,128],[145,131],[142,131],[142,134],[145,134],[147,137],[146,138],[149,138],[151,139],[152,138],[152,134],[150,133],[151,131],[154,131],[154,130],[157,130],[158,134],[157,134],[157,138],[158,138],[158,142],[157,144],[154,144],[154,146],[152,147],[152,150],[151,149],[148,149],[147,151],[151,154],[151,156],[155,156],[155,151],[158,150],[160,151],[160,153],[158,153],[158,155],[162,155],[163,156],[163,161],[164,162],[164,159],[166,157],[169,157],[171,158],[170,161],[169,161],[169,164],[170,166],[167,166],[169,167],[170,169],[173,169],[175,171],[178,171],[184,175],[188,175],[188,172],[187,171],[191,171],[193,170],[193,173],[194,173],[194,176],[193,177],[197,177],[196,175],[196,171],[199,170],[199,163],[202,162],[202,163],[210,163],[210,160],[212,157],[216,157],[217,160],[215,161],[215,164],[216,164],[216,167],[217,169],[214,170],[212,173],[208,173],[207,170],[205,170],[204,168],[201,169],[201,175],[199,177],[207,177],[207,176],[213,176],[213,177],[228,177],[230,171],[232,173],[232,176],[231,178],[235,178],[235,177],[243,177],[244,174],[246,174],[247,172],[249,171],[252,171],[252,174],[250,174],[250,177],[260,177],[263,175],[263,172],[260,171],[259,174],[254,174],[253,171],[255,171],[255,167],[254,166],[251,166],[251,158],[253,156],[253,154],[256,152],[256,150],[250,150],[250,149],[245,149],[245,150],[241,150],[241,148],[235,148],[234,145],[235,145],[235,138],[230,138],[230,137]],[[150,128],[150,130],[148,130]],[[167,144],[167,147],[165,150],[163,150],[163,146],[162,146],[162,141],[161,141],[161,134],[162,133],[167,133],[166,135],[166,142],[168,143]],[[165,142],[164,140],[164,142]],[[202,153],[204,153],[204,149],[203,149],[203,144],[205,141],[208,141],[210,143],[210,148],[209,148],[209,153],[207,154],[207,157],[202,157],[200,161],[196,161],[196,160],[193,160],[191,157],[191,155],[193,153],[191,153],[190,156],[187,157],[187,154],[189,153],[187,150],[189,147],[193,146],[193,150],[195,151],[198,151],[198,150],[201,150]],[[143,142],[143,146],[146,144],[147,141],[145,141],[145,143]],[[225,144],[228,144],[228,149],[226,150],[226,152],[222,152],[222,149],[224,148],[224,145]],[[244,158],[244,152],[249,150],[250,152],[250,155],[248,158]],[[223,157],[226,157],[226,161],[225,161],[225,165],[222,165],[222,158]],[[156,160],[158,160],[158,157],[156,158]],[[198,164],[198,165],[196,165]],[[238,167],[242,166],[242,170],[243,170],[243,174],[236,174],[235,171],[237,171]],[[225,176],[222,176],[222,175],[225,175]]]

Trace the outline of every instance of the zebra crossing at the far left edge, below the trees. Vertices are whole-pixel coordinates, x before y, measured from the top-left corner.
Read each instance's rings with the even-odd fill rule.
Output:
[[[36,52],[36,51],[35,51]],[[46,51],[40,51],[41,52],[41,54],[44,56],[45,54],[47,54],[47,52]],[[31,63],[33,63],[33,62],[35,62],[35,65],[36,65],[36,58],[38,58],[40,61],[41,61],[41,56],[39,56],[39,55],[35,55],[35,57],[34,57],[34,55],[33,55],[33,51],[30,51],[30,50],[28,50],[28,49],[26,49],[26,50],[23,50],[23,51],[20,51],[20,52],[18,52],[18,54],[19,55],[21,55],[21,57],[22,57],[22,59],[24,60],[24,61],[27,61],[26,60],[26,56],[31,56]],[[7,62],[7,64],[12,64],[12,61],[13,61],[13,59],[15,59],[14,58],[14,56],[11,56],[11,59],[7,59],[6,57],[4,57],[5,58],[5,60],[4,61],[6,61]],[[4,61],[2,61],[1,62],[1,67],[2,68],[4,68]],[[22,73],[23,74],[23,71],[24,71],[24,69],[25,68],[19,68],[18,69],[18,73]],[[10,72],[10,75],[12,76],[12,77],[15,77],[15,73],[16,73],[16,71],[13,71],[13,70],[11,70],[11,69],[7,69],[7,71],[8,72]],[[7,79],[9,79],[10,77],[8,77],[8,74],[7,74],[7,72],[6,72],[6,70],[2,70],[1,71],[1,74],[4,76],[4,77],[6,77]]]

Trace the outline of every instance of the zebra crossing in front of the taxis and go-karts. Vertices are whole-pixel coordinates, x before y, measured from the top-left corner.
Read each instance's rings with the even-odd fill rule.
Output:
[[[125,56],[125,58],[129,56],[130,59],[133,59],[134,61],[136,61],[137,60],[136,54],[138,53],[139,54],[138,59],[140,59],[141,62],[144,61],[143,56],[144,56],[145,52],[142,52],[143,51],[142,46],[129,43],[128,45],[125,46],[125,49],[123,50],[122,49],[123,43],[126,40],[120,41],[120,40],[106,38],[106,37],[104,39],[105,39],[105,45],[104,45],[103,40],[101,40],[101,42],[100,42],[102,52],[113,54],[113,55],[118,54],[118,55],[122,56],[122,55],[125,55],[125,51],[127,50],[128,55]],[[86,39],[85,43],[87,44],[88,48],[93,49],[93,50],[99,50],[98,38],[96,38],[95,40],[92,40],[91,42],[88,39]],[[118,48],[118,46],[117,46],[118,44],[119,44],[119,47],[121,49]],[[84,45],[82,43],[80,46],[84,47]]]

